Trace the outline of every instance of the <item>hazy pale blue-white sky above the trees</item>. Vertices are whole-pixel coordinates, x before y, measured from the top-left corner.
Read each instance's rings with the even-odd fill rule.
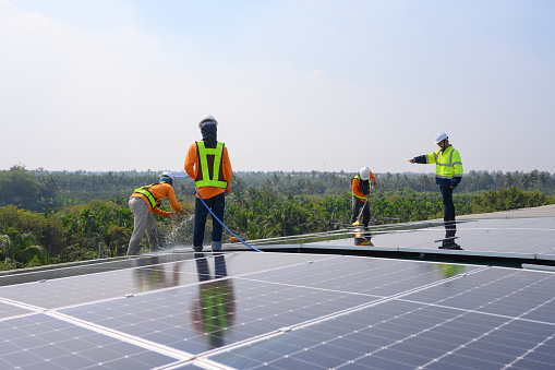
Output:
[[[555,172],[555,1],[0,0],[0,169]]]

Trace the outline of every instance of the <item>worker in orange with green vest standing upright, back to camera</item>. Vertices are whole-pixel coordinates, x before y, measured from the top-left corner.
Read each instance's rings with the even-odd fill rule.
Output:
[[[214,215],[224,222],[226,195],[231,188],[231,163],[229,162],[228,148],[217,140],[218,121],[206,115],[201,119],[198,129],[203,135],[189,147],[185,157],[185,171],[195,181],[195,223],[193,230],[193,249],[195,252],[203,250],[204,229],[208,208]],[[200,199],[202,198],[202,200]],[[206,204],[206,206],[203,204]],[[221,250],[222,225],[212,217],[212,250]]]

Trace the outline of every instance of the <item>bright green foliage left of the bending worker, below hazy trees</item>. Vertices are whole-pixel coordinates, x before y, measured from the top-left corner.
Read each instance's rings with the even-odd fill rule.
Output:
[[[126,204],[92,201],[43,214],[0,207],[1,255],[28,265],[97,258],[98,244],[110,255],[122,255],[133,229],[133,214]],[[10,242],[8,242],[9,238]],[[33,248],[31,248],[33,247]]]

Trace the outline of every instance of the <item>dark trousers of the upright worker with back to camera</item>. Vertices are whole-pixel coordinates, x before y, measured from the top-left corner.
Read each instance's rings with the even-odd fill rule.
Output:
[[[226,207],[226,195],[224,193],[204,200],[204,203],[214,212],[216,217],[224,222],[224,208]],[[204,229],[206,227],[206,216],[208,210],[204,206],[203,202],[196,198],[195,201],[195,225],[193,230],[193,249],[197,252],[203,250]],[[214,217],[212,217],[212,243],[213,249],[219,250],[221,248],[221,232],[224,227]],[[218,248],[219,247],[219,248]]]

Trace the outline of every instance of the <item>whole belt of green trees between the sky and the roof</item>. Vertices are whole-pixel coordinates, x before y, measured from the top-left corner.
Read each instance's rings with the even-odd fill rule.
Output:
[[[129,195],[135,188],[157,182],[158,174],[50,172],[23,166],[0,171],[0,270],[123,255],[133,230]],[[192,213],[193,181],[184,174],[176,175],[178,200]],[[350,219],[353,175],[237,172],[225,223],[249,240],[345,228]],[[378,186],[369,203],[373,223],[443,217],[433,175],[375,175]],[[471,171],[464,175],[454,201],[459,215],[494,212],[554,204],[554,177],[547,172]],[[162,208],[169,211],[167,201]],[[191,217],[177,223],[156,218],[166,247],[191,243]],[[207,234],[209,237],[209,228]],[[146,248],[146,239],[142,246]]]

